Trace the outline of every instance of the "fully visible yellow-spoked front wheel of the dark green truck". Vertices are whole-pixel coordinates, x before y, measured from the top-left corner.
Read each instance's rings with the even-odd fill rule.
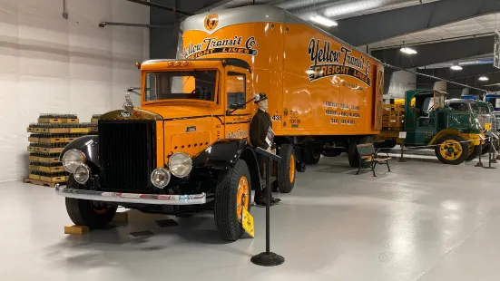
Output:
[[[444,164],[458,165],[464,162],[469,156],[469,146],[464,138],[457,135],[446,135],[439,139],[436,144],[436,157]],[[449,144],[443,145],[445,142]],[[460,142],[460,143],[457,143]],[[443,153],[441,153],[443,151]],[[446,158],[445,155],[448,157]]]

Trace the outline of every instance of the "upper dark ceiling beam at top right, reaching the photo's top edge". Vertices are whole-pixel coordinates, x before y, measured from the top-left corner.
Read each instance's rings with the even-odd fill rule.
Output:
[[[338,20],[329,32],[358,46],[496,12],[497,0],[441,0]]]

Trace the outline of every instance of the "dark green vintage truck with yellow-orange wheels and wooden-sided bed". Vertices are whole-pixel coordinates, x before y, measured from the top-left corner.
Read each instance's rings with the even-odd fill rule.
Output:
[[[445,100],[446,92],[405,92],[404,110],[385,109],[386,129],[373,138],[377,147],[394,147],[397,143],[406,147],[432,146],[437,159],[445,164],[471,160],[469,156],[477,155],[479,145],[485,141],[481,124],[474,112],[453,110],[445,106]]]

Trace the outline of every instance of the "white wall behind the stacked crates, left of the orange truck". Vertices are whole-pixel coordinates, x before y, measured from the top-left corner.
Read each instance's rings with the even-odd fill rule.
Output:
[[[39,113],[93,113],[122,106],[140,86],[133,63],[146,59],[149,8],[124,0],[0,0],[0,181],[28,174],[28,133]]]

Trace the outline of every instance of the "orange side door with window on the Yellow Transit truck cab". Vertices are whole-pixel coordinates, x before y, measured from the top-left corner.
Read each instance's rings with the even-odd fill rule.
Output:
[[[246,103],[250,101],[251,95],[250,73],[247,71],[228,71],[225,87],[225,138],[248,138],[253,110],[253,102]]]

